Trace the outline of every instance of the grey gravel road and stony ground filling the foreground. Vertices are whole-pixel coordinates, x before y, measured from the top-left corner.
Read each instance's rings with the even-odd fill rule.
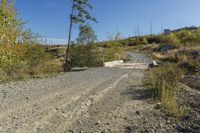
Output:
[[[199,132],[200,92],[182,87],[180,99],[190,111],[177,121],[152,100],[144,75],[142,69],[91,68],[0,84],[0,132]]]

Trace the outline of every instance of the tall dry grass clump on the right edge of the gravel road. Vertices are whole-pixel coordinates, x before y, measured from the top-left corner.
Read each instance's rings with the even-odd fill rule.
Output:
[[[176,65],[166,65],[162,68],[152,69],[144,84],[152,90],[155,100],[177,118],[181,117],[185,110],[176,102],[179,80],[183,75],[182,69]]]

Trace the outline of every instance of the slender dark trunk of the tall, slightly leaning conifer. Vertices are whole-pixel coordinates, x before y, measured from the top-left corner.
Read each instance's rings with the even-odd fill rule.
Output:
[[[70,27],[69,27],[69,35],[68,35],[68,44],[67,49],[65,52],[65,64],[64,64],[64,71],[70,71],[69,68],[69,52],[70,52],[70,43],[71,43],[71,33],[72,33],[72,25],[73,25],[73,14],[74,14],[74,0],[72,1],[72,9],[71,9],[71,15],[70,15]]]

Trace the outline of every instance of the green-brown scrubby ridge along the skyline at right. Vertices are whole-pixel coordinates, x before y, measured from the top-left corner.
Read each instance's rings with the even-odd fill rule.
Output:
[[[174,30],[170,34],[160,34],[151,36],[130,37],[120,40],[123,46],[137,46],[147,44],[170,44],[174,47],[193,46],[200,44],[200,29]]]

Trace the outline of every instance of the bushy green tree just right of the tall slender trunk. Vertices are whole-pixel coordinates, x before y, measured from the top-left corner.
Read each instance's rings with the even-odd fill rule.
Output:
[[[70,68],[102,65],[102,58],[98,53],[97,46],[94,45],[96,40],[97,37],[90,25],[82,25],[79,27],[77,44],[70,47]]]

